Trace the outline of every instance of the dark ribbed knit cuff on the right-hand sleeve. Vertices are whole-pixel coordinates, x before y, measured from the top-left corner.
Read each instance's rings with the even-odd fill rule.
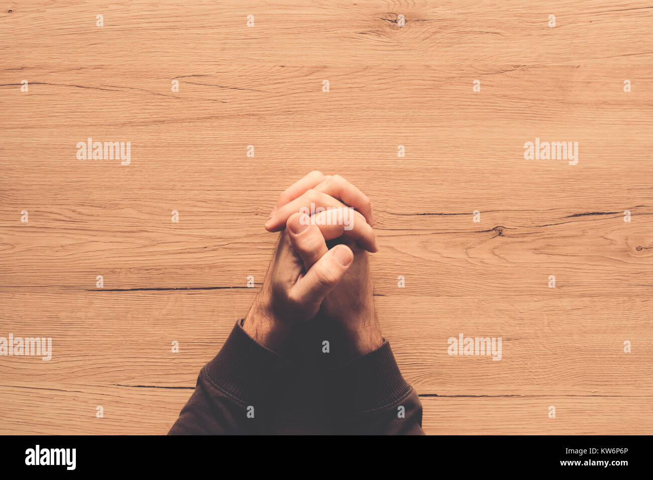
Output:
[[[345,412],[368,412],[406,397],[411,386],[404,380],[387,340],[362,357],[328,370],[332,405]]]

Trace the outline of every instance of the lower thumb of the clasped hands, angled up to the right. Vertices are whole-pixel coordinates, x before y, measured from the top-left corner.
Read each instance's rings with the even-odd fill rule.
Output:
[[[336,245],[293,285],[289,293],[305,308],[309,318],[317,314],[322,301],[340,283],[353,260],[351,248],[347,245]]]

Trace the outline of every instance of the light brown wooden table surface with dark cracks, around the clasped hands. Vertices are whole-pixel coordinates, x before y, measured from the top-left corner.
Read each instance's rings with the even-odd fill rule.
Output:
[[[167,432],[310,170],[372,199],[427,433],[652,433],[652,25],[647,1],[5,3],[0,337],[53,352],[0,357],[0,433]],[[501,361],[449,355],[460,333]]]

